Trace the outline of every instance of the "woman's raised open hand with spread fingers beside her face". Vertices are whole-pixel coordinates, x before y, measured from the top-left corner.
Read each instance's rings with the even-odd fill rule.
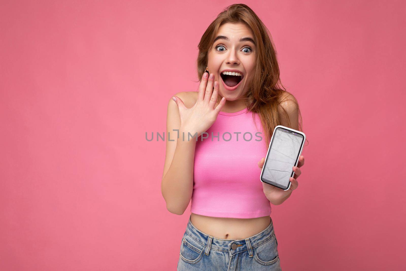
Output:
[[[214,82],[214,74],[208,76],[207,72],[205,72],[199,85],[197,101],[192,108],[186,108],[183,101],[179,97],[174,96],[176,98],[174,100],[179,108],[181,121],[179,132],[185,132],[186,137],[188,137],[188,132],[192,136],[197,133],[197,137],[199,137],[214,124],[218,113],[226,102],[223,97],[220,103],[214,107],[217,102],[218,89],[218,82]]]

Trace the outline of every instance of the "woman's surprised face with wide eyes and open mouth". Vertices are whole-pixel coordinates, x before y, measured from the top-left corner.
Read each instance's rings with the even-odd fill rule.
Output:
[[[238,100],[250,87],[256,50],[253,40],[251,30],[243,23],[225,23],[218,29],[208,53],[207,69],[220,85],[219,95],[227,100]],[[228,69],[238,71],[242,79],[223,74]]]

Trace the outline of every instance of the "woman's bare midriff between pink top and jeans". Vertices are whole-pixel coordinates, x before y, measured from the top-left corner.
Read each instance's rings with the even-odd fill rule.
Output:
[[[241,240],[265,230],[270,223],[270,217],[207,217],[192,213],[190,221],[198,230],[215,238]]]

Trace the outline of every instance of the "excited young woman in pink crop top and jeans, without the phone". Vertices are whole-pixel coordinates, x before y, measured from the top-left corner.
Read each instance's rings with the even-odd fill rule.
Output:
[[[274,127],[301,129],[267,28],[229,6],[203,34],[197,69],[199,91],[177,93],[167,112],[162,195],[177,215],[192,199],[177,269],[281,270],[270,203],[298,187],[304,157],[288,191],[259,180]]]

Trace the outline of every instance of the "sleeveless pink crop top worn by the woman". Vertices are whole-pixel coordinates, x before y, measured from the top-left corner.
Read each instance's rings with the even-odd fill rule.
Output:
[[[190,211],[209,217],[270,215],[259,179],[258,162],[268,151],[259,115],[248,108],[220,112],[206,133],[196,142]],[[201,141],[202,137],[207,138]]]

